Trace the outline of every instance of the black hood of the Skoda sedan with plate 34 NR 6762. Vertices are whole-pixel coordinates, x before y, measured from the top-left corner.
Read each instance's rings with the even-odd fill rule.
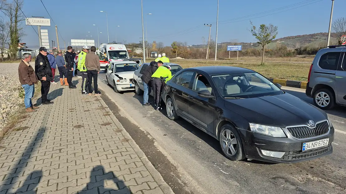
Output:
[[[225,99],[225,107],[250,123],[293,126],[309,125],[309,120],[326,120],[327,114],[315,106],[288,93],[249,99]]]

